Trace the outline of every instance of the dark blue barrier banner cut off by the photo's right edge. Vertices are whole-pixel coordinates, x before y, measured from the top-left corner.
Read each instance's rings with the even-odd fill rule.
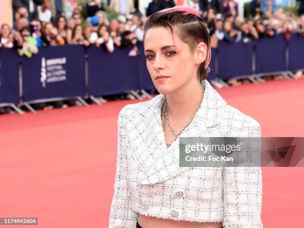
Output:
[[[289,39],[288,70],[304,69],[304,36],[292,34]]]

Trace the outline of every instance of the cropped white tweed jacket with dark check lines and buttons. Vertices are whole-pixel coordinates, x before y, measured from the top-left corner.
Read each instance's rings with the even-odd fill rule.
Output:
[[[180,137],[260,137],[260,124],[229,106],[207,80],[194,119]],[[164,94],[126,105],[118,117],[117,164],[109,228],[136,228],[139,214],[224,228],[262,228],[260,167],[179,167],[179,139],[167,149]]]

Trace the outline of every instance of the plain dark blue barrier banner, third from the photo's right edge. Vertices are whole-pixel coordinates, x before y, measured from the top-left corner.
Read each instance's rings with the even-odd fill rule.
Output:
[[[218,76],[229,79],[236,76],[252,75],[253,43],[232,43],[220,41],[218,44]]]

